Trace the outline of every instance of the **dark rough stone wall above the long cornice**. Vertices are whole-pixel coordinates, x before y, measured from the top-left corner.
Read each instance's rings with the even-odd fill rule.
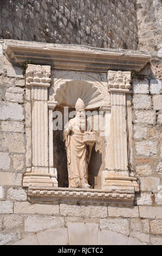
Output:
[[[136,49],[135,0],[2,0],[0,39]]]

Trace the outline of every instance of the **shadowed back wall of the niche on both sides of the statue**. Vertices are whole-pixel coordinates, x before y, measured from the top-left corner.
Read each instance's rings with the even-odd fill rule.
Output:
[[[63,108],[56,107],[56,111],[62,112]],[[75,111],[74,108],[69,107],[69,112]],[[99,109],[93,109],[91,112],[98,112]],[[94,119],[98,119],[98,116],[92,116],[92,124]],[[54,118],[53,120],[56,120]],[[64,127],[64,122],[62,120]],[[93,129],[92,129],[93,130]],[[88,164],[88,183],[91,188],[101,189],[101,173],[105,169],[105,137],[100,136],[100,131],[96,132],[96,143],[93,145],[92,154],[90,156],[90,162]],[[58,187],[68,187],[68,167],[67,167],[67,154],[63,142],[63,130],[53,131],[53,145],[54,145],[54,168],[57,169],[57,181]]]

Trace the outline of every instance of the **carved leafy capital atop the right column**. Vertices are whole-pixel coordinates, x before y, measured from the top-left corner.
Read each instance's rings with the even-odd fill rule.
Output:
[[[131,89],[131,71],[109,70],[107,81],[111,92],[128,93],[129,89]]]

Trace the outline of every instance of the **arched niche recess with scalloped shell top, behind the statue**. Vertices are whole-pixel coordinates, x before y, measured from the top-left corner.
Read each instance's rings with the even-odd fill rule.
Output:
[[[99,116],[101,106],[109,104],[107,86],[92,76],[76,73],[53,79],[51,84],[49,99],[57,102],[54,111],[62,113],[62,127],[66,125],[64,122],[67,121],[67,119],[64,120],[64,107],[68,107],[68,113],[75,111],[75,103],[80,97],[85,102],[86,111],[93,112],[92,130],[94,130],[94,124],[99,121],[99,118],[100,120],[101,118],[103,119],[103,117]],[[97,141],[93,147],[88,166],[89,184],[93,188],[101,188],[101,172],[105,169],[105,137],[100,136],[100,128],[96,130]],[[57,169],[58,186],[67,187],[67,157],[62,139],[62,131],[63,129],[53,131],[54,168]]]

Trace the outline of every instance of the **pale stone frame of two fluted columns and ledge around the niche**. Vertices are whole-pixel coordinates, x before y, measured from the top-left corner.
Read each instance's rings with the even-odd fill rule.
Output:
[[[48,100],[50,87],[50,66],[28,65],[26,70],[26,132],[27,132],[27,173],[24,174],[23,186],[29,187],[29,199],[54,201],[78,200],[86,202],[102,202],[113,204],[131,204],[134,191],[139,191],[137,178],[130,177],[127,160],[127,131],[126,131],[126,93],[131,88],[131,72],[108,71],[109,93],[111,105],[108,105],[108,92],[99,82],[97,84],[103,101],[100,109],[109,115],[106,126],[109,136],[105,137],[106,170],[102,172],[101,190],[83,190],[72,188],[58,188],[57,170],[53,164],[53,111],[57,101]],[[77,76],[79,77],[79,75]],[[76,77],[70,76],[71,80]],[[83,77],[80,79],[83,80]],[[62,78],[57,82],[57,88],[69,81]],[[85,78],[86,80],[86,78]],[[56,89],[57,89],[56,88]],[[103,90],[103,92],[102,92]],[[103,96],[104,95],[104,96]],[[95,104],[94,104],[95,108]],[[105,119],[107,120],[107,119]],[[31,143],[29,145],[29,137]],[[32,148],[30,164],[28,155]],[[102,200],[100,200],[102,198]],[[115,200],[115,201],[114,201]]]

